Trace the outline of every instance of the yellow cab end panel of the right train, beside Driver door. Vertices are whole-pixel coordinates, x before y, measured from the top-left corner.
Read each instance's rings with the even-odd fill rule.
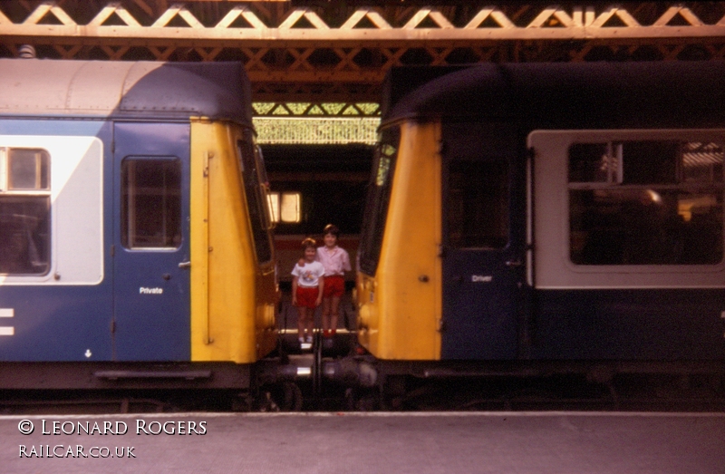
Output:
[[[359,340],[379,359],[440,359],[439,144],[438,123],[403,123],[394,162],[373,177],[392,175],[390,201],[377,269],[357,291]]]

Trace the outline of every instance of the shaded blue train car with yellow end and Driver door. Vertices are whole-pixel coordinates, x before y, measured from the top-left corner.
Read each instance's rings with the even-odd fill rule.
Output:
[[[381,370],[722,374],[723,74],[393,69],[358,254]]]

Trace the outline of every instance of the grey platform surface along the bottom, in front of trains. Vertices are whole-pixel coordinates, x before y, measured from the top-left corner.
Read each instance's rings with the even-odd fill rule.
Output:
[[[2,416],[0,472],[723,474],[725,413]]]

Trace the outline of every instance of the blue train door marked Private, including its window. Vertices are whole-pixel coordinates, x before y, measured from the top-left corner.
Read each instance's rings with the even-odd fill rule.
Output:
[[[113,351],[189,360],[189,125],[114,126]]]

